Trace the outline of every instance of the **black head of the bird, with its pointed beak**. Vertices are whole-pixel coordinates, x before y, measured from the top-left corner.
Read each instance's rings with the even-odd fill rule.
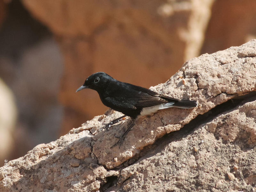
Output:
[[[106,84],[109,82],[109,80],[113,79],[111,76],[109,76],[107,73],[104,72],[97,72],[92,75],[90,75],[84,82],[84,84],[79,87],[76,92],[82,90],[82,89],[93,89],[97,92],[101,91],[106,87]]]

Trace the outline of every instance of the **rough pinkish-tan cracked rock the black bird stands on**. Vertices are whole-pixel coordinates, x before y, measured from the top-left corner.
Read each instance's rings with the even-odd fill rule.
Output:
[[[187,61],[159,93],[198,101],[130,123],[108,110],[0,168],[0,191],[254,191],[256,40]]]

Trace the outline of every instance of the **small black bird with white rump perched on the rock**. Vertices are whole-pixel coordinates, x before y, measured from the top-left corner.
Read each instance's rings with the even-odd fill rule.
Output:
[[[89,76],[76,92],[86,88],[97,91],[104,105],[124,114],[124,116],[107,124],[107,128],[125,116],[132,118],[132,124],[112,147],[122,144],[124,136],[131,130],[135,120],[140,116],[150,115],[160,109],[170,107],[195,108],[197,106],[196,101],[178,100],[160,95],[144,87],[118,81],[104,72]]]

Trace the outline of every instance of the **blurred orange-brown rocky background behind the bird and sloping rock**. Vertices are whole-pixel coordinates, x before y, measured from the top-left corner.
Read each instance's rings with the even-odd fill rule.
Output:
[[[256,38],[254,0],[0,0],[0,166],[103,114],[104,71],[150,87],[186,60]]]

